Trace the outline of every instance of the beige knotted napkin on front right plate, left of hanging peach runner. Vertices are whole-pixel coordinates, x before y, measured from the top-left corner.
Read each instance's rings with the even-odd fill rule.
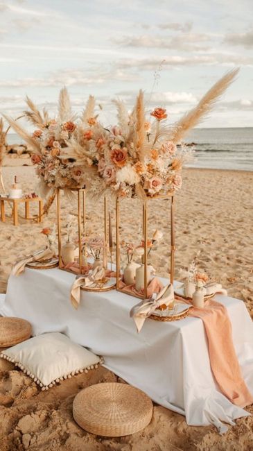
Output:
[[[154,280],[154,279],[153,279]],[[137,327],[137,332],[141,332],[142,326],[153,312],[155,312],[155,309],[157,307],[160,307],[160,305],[165,304],[167,307],[174,302],[174,289],[173,285],[169,284],[164,287],[157,297],[152,300],[147,301],[141,301],[141,303],[134,305],[132,309],[130,310],[130,316],[133,318],[134,323]]]

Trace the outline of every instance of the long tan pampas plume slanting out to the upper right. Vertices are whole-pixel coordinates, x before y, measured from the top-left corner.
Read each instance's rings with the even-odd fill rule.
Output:
[[[168,133],[168,139],[177,144],[177,142],[180,142],[182,138],[185,137],[186,133],[188,133],[191,128],[200,124],[200,121],[207,116],[216,101],[218,101],[220,96],[225,92],[225,90],[227,90],[232,81],[234,81],[238,71],[239,69],[233,69],[220,78],[220,80],[218,80],[218,82],[211,87],[207,94],[202,97],[198,105],[184,114],[182,119],[180,119],[173,126],[171,133]]]

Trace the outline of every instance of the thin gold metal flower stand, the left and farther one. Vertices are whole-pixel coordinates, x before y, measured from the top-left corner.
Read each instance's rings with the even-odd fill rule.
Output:
[[[59,269],[62,271],[67,271],[69,273],[76,272],[71,271],[71,269],[66,269],[62,263],[62,227],[61,227],[61,215],[60,215],[60,191],[62,188],[58,188],[56,196],[56,207],[57,207],[57,224],[58,224],[58,256],[59,256]],[[82,237],[86,237],[86,192],[85,187],[83,188],[73,188],[73,192],[78,193],[78,264],[79,273],[82,268]],[[104,198],[104,234],[105,234],[105,249],[107,249],[107,199]]]

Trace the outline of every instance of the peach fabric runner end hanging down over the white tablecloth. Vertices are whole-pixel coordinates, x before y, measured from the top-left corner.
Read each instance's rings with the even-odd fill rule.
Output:
[[[193,307],[189,316],[201,318],[204,323],[211,369],[220,391],[237,406],[251,405],[253,396],[243,380],[226,307],[210,299],[204,303],[203,309]]]

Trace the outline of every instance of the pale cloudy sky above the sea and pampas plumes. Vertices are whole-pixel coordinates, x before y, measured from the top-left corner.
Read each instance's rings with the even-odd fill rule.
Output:
[[[173,123],[241,67],[202,127],[253,126],[253,1],[0,0],[0,64],[0,112],[28,95],[54,115],[65,85],[76,111],[96,96],[106,125],[139,89]]]

